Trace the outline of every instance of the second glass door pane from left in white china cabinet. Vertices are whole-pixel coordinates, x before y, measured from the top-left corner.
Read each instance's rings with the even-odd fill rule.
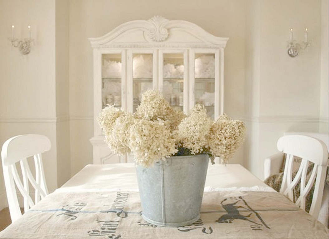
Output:
[[[153,55],[133,55],[133,103],[134,112],[140,103],[140,97],[147,89],[153,88]]]

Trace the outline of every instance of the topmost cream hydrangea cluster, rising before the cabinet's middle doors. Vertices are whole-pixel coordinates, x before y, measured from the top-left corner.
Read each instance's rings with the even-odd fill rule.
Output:
[[[158,90],[149,89],[142,94],[135,117],[147,120],[164,120],[164,124],[173,131],[177,129],[181,120],[186,116],[182,111],[170,107]]]

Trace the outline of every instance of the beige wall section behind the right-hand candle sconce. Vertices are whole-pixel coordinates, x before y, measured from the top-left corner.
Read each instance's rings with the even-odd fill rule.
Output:
[[[276,141],[284,132],[318,131],[321,1],[263,0],[259,6],[259,115],[253,115],[259,126],[258,169],[254,174],[262,179],[263,159],[277,152]],[[312,42],[295,58],[288,56],[286,48],[291,27],[298,43],[304,41],[307,27]]]

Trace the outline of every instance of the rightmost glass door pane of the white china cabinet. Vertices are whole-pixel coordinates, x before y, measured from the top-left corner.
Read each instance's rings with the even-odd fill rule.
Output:
[[[194,102],[204,105],[207,114],[215,114],[215,54],[195,54]]]

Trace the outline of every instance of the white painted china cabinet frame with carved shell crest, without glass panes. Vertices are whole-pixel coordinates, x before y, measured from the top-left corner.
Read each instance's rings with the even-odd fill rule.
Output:
[[[183,110],[194,106],[194,52],[215,54],[215,118],[223,113],[224,48],[227,37],[217,37],[194,23],[154,16],[149,20],[123,23],[97,38],[89,38],[94,60],[93,163],[131,161],[131,156],[112,155],[106,148],[97,117],[102,110],[102,54],[120,53],[122,109],[133,112],[133,55],[153,54],[153,88],[163,89],[163,54],[181,53],[184,58]]]

